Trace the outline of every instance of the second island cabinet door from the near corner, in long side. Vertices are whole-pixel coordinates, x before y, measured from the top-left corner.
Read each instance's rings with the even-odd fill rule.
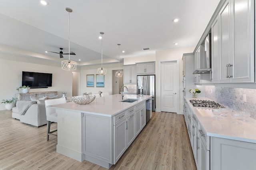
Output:
[[[135,138],[135,112],[127,117],[127,147],[130,146]]]

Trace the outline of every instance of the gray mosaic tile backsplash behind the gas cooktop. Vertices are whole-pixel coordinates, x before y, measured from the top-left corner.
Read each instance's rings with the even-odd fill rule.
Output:
[[[244,94],[246,102],[243,100]],[[205,86],[205,96],[231,109],[248,109],[256,115],[256,89]]]

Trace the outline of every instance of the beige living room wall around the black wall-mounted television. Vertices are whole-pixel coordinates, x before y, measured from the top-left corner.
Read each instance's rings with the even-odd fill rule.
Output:
[[[0,100],[15,97],[16,88],[22,83],[22,71],[52,73],[52,87],[34,88],[30,92],[57,91],[59,97],[62,92],[72,95],[72,72],[62,70],[61,63],[5,53],[0,53],[0,63]],[[0,110],[5,110],[4,106],[0,104]]]

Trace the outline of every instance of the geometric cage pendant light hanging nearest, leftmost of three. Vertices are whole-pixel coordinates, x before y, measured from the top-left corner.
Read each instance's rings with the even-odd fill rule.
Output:
[[[61,68],[66,71],[73,71],[76,70],[76,62],[70,60],[70,12],[73,10],[71,8],[66,8],[68,12],[68,60],[61,62]]]

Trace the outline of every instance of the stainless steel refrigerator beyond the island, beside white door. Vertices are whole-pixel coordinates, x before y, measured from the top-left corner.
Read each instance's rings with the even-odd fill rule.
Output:
[[[152,96],[152,111],[155,111],[155,75],[137,76],[137,94]]]

